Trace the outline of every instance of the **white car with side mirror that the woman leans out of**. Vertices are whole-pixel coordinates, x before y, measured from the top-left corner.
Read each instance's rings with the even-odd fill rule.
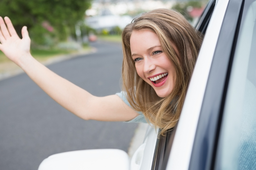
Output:
[[[148,128],[130,161],[120,150],[50,156],[39,170],[256,169],[256,1],[210,0],[196,29],[204,40],[177,126]]]

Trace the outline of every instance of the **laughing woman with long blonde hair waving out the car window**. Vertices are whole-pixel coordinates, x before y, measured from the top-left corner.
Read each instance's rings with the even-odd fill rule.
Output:
[[[96,97],[36,61],[26,27],[22,39],[8,17],[0,17],[0,28],[0,50],[70,112],[84,120],[151,122],[162,134],[179,119],[202,41],[178,12],[142,14],[122,33],[123,92]]]

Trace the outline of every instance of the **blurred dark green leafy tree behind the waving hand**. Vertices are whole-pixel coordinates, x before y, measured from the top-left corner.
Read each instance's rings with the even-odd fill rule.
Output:
[[[34,43],[51,45],[74,32],[90,4],[91,0],[1,0],[0,16],[8,16],[20,36],[25,25]],[[42,27],[44,22],[49,29]]]

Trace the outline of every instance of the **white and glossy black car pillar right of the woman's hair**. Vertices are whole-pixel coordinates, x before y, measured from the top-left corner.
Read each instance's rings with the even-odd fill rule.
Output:
[[[215,167],[220,123],[244,2],[217,1],[173,138],[166,169]]]

